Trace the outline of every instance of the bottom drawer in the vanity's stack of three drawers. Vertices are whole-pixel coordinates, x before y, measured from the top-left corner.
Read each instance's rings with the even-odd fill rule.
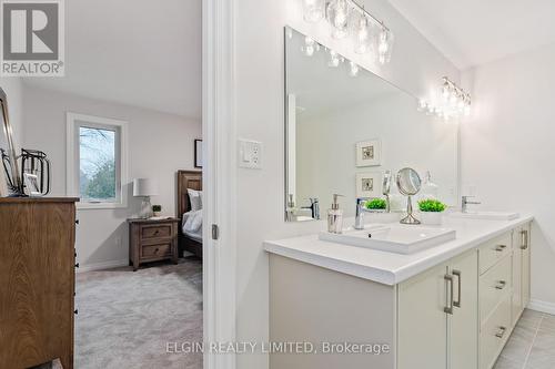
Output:
[[[511,335],[511,295],[497,306],[480,332],[480,369],[491,369]]]

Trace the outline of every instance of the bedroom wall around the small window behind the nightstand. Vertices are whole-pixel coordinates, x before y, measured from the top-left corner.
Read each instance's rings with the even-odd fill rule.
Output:
[[[65,195],[65,113],[74,112],[129,122],[129,181],[157,177],[163,214],[175,215],[175,172],[193,170],[193,140],[200,139],[201,122],[140,107],[95,101],[77,95],[24,86],[24,146],[44,151],[52,165],[50,196]],[[141,199],[127,184],[128,208],[78,212],[78,259],[94,267],[128,259],[125,219],[137,216]]]

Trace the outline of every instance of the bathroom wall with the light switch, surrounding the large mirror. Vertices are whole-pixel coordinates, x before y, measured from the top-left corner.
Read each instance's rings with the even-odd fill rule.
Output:
[[[238,136],[262,141],[264,167],[238,171],[238,339],[266,340],[269,316],[268,256],[264,239],[314,233],[323,223],[285,224],[283,27],[304,25],[296,0],[238,0],[235,7],[235,117]],[[436,89],[458,72],[385,0],[366,0],[366,9],[395,31],[393,61],[375,70],[415,95]],[[314,35],[313,30],[301,29]],[[322,33],[323,34],[323,33]],[[327,34],[327,33],[326,33]],[[323,38],[323,35],[322,35]],[[321,37],[319,37],[321,39]],[[323,40],[320,40],[321,42]],[[326,37],[324,43],[330,38]],[[357,61],[357,55],[345,57]],[[235,153],[230,153],[235,155]],[[350,204],[351,206],[354,206]],[[323,209],[325,211],[325,209]],[[242,355],[238,368],[268,368],[266,356]]]

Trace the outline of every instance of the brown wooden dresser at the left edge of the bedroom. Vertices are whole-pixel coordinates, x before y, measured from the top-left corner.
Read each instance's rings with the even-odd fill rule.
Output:
[[[73,368],[77,198],[0,198],[0,368]]]

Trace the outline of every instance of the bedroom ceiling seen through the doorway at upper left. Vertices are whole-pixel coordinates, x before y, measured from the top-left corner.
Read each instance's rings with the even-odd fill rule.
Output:
[[[201,0],[71,0],[65,20],[65,78],[27,85],[201,117]]]

